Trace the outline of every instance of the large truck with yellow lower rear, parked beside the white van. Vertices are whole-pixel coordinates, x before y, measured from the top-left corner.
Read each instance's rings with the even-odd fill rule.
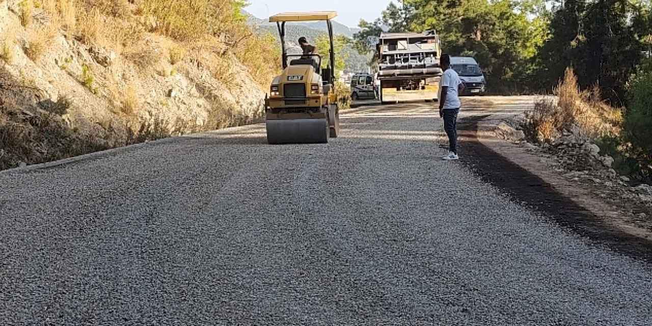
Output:
[[[381,102],[438,100],[442,71],[436,31],[381,33],[376,52]]]

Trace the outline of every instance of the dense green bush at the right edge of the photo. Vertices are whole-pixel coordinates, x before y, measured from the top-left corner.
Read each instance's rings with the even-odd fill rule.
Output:
[[[652,166],[652,72],[638,74],[632,80],[623,138],[631,143],[632,155],[645,169]]]

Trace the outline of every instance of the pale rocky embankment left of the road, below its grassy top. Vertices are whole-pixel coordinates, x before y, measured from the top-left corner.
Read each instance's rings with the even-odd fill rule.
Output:
[[[22,6],[0,0],[0,170],[261,114],[265,91],[225,44],[182,48],[131,16],[135,32],[110,46],[112,31],[72,32],[42,8],[26,25]]]

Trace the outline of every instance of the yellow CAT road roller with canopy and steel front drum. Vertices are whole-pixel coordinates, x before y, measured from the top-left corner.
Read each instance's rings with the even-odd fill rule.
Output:
[[[274,78],[265,99],[267,141],[282,143],[327,143],[340,133],[340,113],[335,95],[334,11],[284,12],[269,18],[280,34],[283,71]],[[324,21],[330,49],[326,68],[319,53],[288,54],[286,23]]]

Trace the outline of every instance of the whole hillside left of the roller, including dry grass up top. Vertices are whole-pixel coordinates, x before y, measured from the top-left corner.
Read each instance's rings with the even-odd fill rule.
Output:
[[[0,170],[256,119],[280,51],[239,2],[23,0],[0,35]]]

